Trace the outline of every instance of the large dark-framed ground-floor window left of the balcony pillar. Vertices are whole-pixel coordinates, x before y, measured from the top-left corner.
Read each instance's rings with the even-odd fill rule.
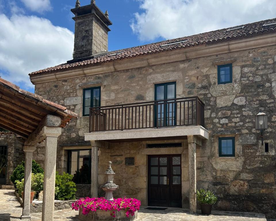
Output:
[[[91,183],[91,150],[68,150],[68,174],[79,184]]]

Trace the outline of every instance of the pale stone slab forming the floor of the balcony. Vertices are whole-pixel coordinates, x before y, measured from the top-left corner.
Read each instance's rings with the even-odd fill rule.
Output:
[[[202,139],[209,139],[209,132],[202,126],[180,126],[153,129],[134,129],[123,131],[92,132],[85,134],[86,141],[96,140],[122,140],[139,138],[164,138],[174,136],[197,135]]]

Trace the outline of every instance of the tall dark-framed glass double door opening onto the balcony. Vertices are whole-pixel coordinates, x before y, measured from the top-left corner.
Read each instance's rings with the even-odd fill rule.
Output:
[[[155,85],[155,100],[167,100],[176,97],[176,83],[163,83]],[[164,101],[157,103],[157,110],[155,110],[155,125],[164,127],[168,125],[175,125],[175,104],[171,100],[169,104],[164,106]],[[157,116],[156,116],[157,115]],[[156,122],[157,121],[157,122]]]

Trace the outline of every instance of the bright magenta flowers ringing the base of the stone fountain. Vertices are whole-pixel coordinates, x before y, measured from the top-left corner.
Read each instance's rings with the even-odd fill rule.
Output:
[[[104,197],[101,198],[81,198],[72,203],[72,209],[79,210],[82,215],[88,215],[97,210],[110,211],[111,217],[124,212],[125,217],[137,217],[137,211],[140,209],[141,202],[134,198],[118,198],[114,201],[108,201]],[[80,216],[81,216],[80,214]],[[118,218],[118,217],[117,217]]]

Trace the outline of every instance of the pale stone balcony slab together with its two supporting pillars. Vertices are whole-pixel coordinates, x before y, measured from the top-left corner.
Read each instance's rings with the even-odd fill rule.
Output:
[[[116,140],[122,140],[124,142],[131,142],[131,139],[135,139],[135,141],[141,139],[149,139],[149,140],[163,140],[166,138],[170,140],[170,136],[182,136],[185,146],[188,146],[188,149],[183,151],[183,149],[179,149],[175,154],[181,154],[181,158],[185,158],[188,156],[187,161],[189,162],[188,168],[186,168],[189,172],[189,176],[183,179],[183,171],[182,170],[182,195],[187,195],[187,189],[189,189],[189,212],[190,214],[196,214],[196,146],[202,146],[202,140],[206,140],[209,138],[208,131],[202,126],[185,126],[185,127],[172,127],[172,128],[158,128],[158,129],[138,129],[138,130],[124,130],[124,131],[108,131],[108,132],[92,132],[85,134],[85,140],[91,142],[91,167],[96,168],[91,171],[91,196],[98,196],[98,177],[101,174],[98,174],[98,150],[101,149],[110,149],[110,142],[106,142],[104,140],[112,140],[112,142],[116,142]],[[112,149],[111,149],[112,150]],[[156,154],[156,150],[150,150],[147,148],[145,151],[146,155],[154,155]],[[152,152],[151,152],[152,151]],[[146,153],[147,152],[147,153]],[[170,154],[170,153],[163,153]],[[186,171],[187,171],[186,170]],[[146,175],[147,176],[147,175]],[[147,191],[145,191],[143,198],[145,199],[143,205],[147,205]],[[183,205],[184,206],[184,205]]]

